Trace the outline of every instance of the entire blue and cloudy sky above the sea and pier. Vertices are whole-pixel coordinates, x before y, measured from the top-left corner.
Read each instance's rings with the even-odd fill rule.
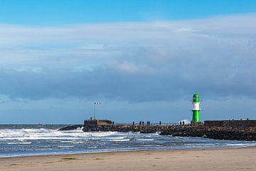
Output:
[[[256,119],[255,1],[0,0],[0,123]]]

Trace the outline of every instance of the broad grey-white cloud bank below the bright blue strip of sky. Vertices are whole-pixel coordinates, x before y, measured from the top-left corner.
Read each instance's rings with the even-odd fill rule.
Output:
[[[256,15],[62,27],[0,25],[9,98],[256,98]]]

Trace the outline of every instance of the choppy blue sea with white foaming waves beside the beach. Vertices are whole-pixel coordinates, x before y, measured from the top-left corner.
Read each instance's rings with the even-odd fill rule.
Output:
[[[67,125],[0,125],[0,157],[133,150],[250,147],[255,141],[172,137],[159,133],[58,130]]]

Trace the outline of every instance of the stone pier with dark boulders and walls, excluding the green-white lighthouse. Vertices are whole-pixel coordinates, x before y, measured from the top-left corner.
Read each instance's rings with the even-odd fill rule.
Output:
[[[243,122],[242,122],[243,121]],[[107,124],[100,124],[100,123]],[[114,123],[110,121],[96,120],[95,124],[85,122],[84,125],[71,125],[60,130],[75,130],[82,128],[84,132],[91,131],[114,131],[114,132],[139,132],[139,133],[159,133],[159,135],[171,135],[178,137],[200,137],[200,138],[213,138],[216,140],[256,140],[256,120],[232,120],[228,126],[218,125],[218,122],[210,122],[211,125],[191,124],[191,125],[178,125],[178,124],[160,124],[152,123],[150,125],[142,125],[138,123]],[[90,124],[88,124],[90,123]],[[92,122],[93,123],[93,122]],[[97,123],[97,124],[96,124]],[[214,125],[213,123],[218,123]],[[227,123],[227,122],[225,122]],[[239,125],[238,125],[239,123]],[[248,125],[250,123],[250,125]]]

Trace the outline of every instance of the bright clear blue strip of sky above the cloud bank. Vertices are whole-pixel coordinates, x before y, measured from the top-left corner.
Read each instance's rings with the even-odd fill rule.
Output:
[[[254,13],[255,0],[1,0],[4,24],[60,25],[169,21]]]

